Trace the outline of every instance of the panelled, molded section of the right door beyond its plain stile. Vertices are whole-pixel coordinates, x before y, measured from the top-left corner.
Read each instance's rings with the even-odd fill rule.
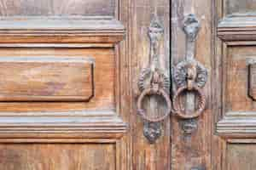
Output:
[[[218,1],[218,101],[216,131],[218,156],[214,163],[222,162],[218,169],[253,170],[251,159],[255,152],[255,100],[254,59],[256,26],[253,1]],[[229,14],[229,15],[227,15]],[[219,65],[221,64],[221,65]],[[217,167],[217,166],[216,166]]]

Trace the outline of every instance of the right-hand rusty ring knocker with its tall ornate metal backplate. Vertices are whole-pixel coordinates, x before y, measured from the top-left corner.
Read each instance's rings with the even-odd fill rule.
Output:
[[[207,82],[207,69],[195,60],[195,39],[199,30],[199,21],[194,14],[189,14],[185,18],[183,26],[187,37],[186,59],[176,65],[173,74],[174,82],[177,85],[177,92],[173,97],[173,109],[179,118],[190,121],[200,116],[206,108],[206,96],[202,88]],[[198,95],[198,106],[192,113],[185,111],[181,102],[181,97],[186,92]]]

